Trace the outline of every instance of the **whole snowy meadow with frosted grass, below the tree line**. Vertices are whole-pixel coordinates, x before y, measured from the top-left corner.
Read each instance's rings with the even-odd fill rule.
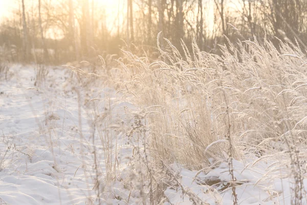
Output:
[[[96,70],[10,66],[0,203],[307,204],[300,49],[163,42]]]

